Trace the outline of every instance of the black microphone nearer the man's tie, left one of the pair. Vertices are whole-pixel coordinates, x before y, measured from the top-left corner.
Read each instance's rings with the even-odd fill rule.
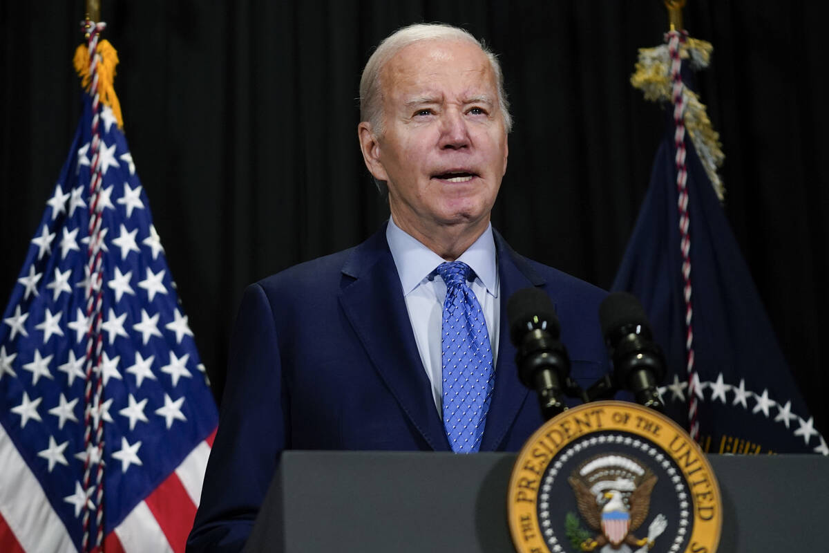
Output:
[[[551,419],[567,409],[561,394],[570,376],[570,357],[559,340],[561,326],[550,296],[536,288],[518,290],[507,302],[507,318],[518,350],[518,376],[536,390],[541,415]]]

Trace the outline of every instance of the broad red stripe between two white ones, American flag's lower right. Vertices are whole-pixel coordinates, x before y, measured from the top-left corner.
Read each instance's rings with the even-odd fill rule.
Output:
[[[196,518],[196,505],[176,473],[170,474],[144,502],[161,526],[164,536],[167,536],[172,551],[184,553],[187,535]]]

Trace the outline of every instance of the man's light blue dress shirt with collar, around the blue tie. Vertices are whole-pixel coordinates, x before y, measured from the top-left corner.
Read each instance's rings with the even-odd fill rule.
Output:
[[[432,383],[434,405],[440,414],[443,395],[440,333],[446,284],[435,269],[445,260],[401,230],[391,217],[385,229],[385,239],[389,242],[397,274],[400,275],[400,286],[403,289],[406,309],[409,311],[414,341],[417,343],[420,361],[423,361],[426,376]],[[478,240],[475,240],[473,245],[458,257],[457,261],[468,264],[475,273],[475,280],[470,284],[470,288],[478,298],[478,303],[483,309],[483,316],[487,320],[494,366],[498,355],[498,332],[501,323],[501,305],[498,302],[501,283],[498,276],[495,240],[492,238],[492,225],[487,226],[487,230],[483,231]]]

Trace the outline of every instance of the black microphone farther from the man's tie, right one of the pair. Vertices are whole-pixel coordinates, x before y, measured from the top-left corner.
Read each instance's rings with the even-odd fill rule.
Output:
[[[657,386],[665,378],[665,356],[653,342],[642,304],[633,294],[611,293],[599,306],[599,321],[617,386],[632,391],[637,403],[663,410]]]

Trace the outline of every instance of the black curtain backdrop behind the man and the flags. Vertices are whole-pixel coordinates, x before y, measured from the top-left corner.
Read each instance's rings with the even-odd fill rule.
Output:
[[[685,27],[715,47],[697,89],[726,153],[725,211],[826,433],[824,3],[689,0]],[[80,115],[83,4],[0,3],[3,305]],[[245,285],[387,216],[357,147],[357,85],[376,43],[410,22],[465,27],[501,55],[515,130],[494,225],[525,255],[612,282],[662,133],[662,109],[628,83],[638,48],[662,43],[662,2],[102,4],[125,132],[217,394]]]

